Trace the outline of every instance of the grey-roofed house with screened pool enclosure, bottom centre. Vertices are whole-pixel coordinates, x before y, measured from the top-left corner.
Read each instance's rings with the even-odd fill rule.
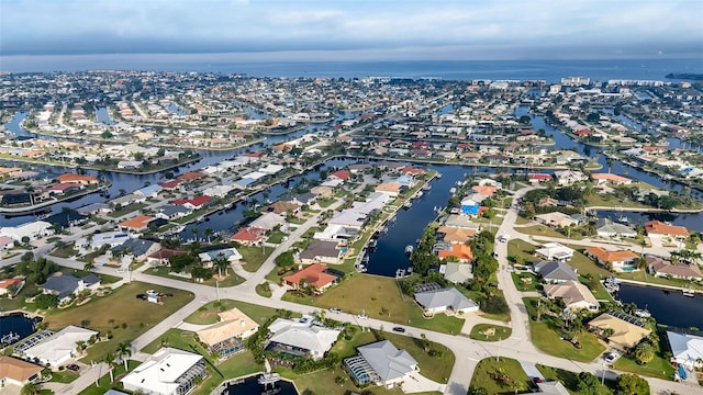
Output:
[[[419,371],[417,361],[389,340],[361,346],[357,351],[356,357],[344,359],[344,368],[358,386],[375,384],[393,388]]]

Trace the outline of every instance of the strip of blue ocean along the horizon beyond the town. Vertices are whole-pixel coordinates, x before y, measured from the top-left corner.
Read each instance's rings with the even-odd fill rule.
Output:
[[[444,80],[506,79],[559,81],[656,79],[669,72],[703,72],[703,59],[603,60],[412,60],[412,61],[241,61],[234,54],[3,56],[0,68],[12,72],[94,69],[200,71],[255,77],[394,77]]]

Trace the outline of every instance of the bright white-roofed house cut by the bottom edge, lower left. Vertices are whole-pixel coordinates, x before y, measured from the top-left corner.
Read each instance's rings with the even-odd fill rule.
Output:
[[[171,394],[176,380],[202,359],[202,356],[166,347],[156,351],[122,379],[125,387],[143,388],[148,394]]]

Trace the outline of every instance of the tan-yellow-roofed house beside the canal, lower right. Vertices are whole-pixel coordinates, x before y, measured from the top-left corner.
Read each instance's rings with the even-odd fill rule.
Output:
[[[596,331],[607,339],[611,347],[623,351],[629,350],[651,334],[645,324],[623,313],[609,312],[593,318],[587,324],[590,331]],[[612,332],[612,335],[609,335]]]

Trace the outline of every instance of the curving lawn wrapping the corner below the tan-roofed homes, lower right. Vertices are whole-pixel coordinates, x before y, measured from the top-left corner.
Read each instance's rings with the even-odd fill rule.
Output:
[[[533,320],[533,317],[537,316],[536,297],[524,297],[523,302],[529,316],[532,342],[542,351],[550,356],[580,362],[593,361],[605,351],[605,347],[598,341],[595,335],[585,330],[579,335],[579,342],[583,348],[581,350],[576,349],[569,341],[562,340],[561,335],[553,328],[549,324],[549,316],[543,314],[542,321]]]

